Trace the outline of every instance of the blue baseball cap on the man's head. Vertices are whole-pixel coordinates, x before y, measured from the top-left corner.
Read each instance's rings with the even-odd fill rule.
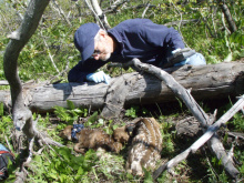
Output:
[[[94,37],[100,27],[95,23],[82,24],[74,33],[74,45],[81,52],[82,61],[88,60],[94,52]]]

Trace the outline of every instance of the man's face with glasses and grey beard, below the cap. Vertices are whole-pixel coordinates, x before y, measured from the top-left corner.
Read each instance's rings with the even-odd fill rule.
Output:
[[[104,37],[100,37],[99,41],[95,41],[95,45],[94,45],[94,52],[92,54],[92,57],[95,60],[102,60],[102,61],[106,61],[110,59],[111,53],[112,53],[112,47],[109,43],[108,35]]]

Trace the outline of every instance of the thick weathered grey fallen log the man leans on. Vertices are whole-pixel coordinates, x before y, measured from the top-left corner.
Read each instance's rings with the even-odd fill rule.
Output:
[[[191,94],[195,100],[220,99],[228,95],[244,93],[244,61],[209,64],[205,67],[184,65],[166,69],[166,72],[185,89],[192,89]],[[113,84],[130,84],[126,79],[135,79],[130,85],[124,106],[131,104],[153,104],[176,101],[174,93],[155,77],[148,73],[126,73],[121,75],[125,82]],[[114,82],[113,82],[114,81]],[[110,85],[111,88],[111,85]],[[34,112],[50,112],[53,106],[67,108],[67,100],[75,106],[101,110],[104,106],[109,85],[104,83],[58,83],[43,85],[23,84],[24,104]],[[0,91],[0,102],[11,106],[9,91]]]

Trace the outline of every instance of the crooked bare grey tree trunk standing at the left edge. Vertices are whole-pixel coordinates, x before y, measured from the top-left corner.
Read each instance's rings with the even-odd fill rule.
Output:
[[[23,103],[22,85],[17,69],[18,57],[24,44],[37,30],[39,21],[48,3],[49,0],[30,1],[20,28],[8,35],[11,40],[6,49],[3,70],[6,79],[11,88],[13,123],[16,128],[20,130],[23,129],[24,124],[31,125],[32,114]],[[28,138],[32,138],[34,135],[33,128],[29,126],[24,129],[29,129],[28,131],[24,131]]]

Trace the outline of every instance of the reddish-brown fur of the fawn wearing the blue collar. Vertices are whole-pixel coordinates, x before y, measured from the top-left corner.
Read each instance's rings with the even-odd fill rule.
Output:
[[[60,136],[72,140],[71,131],[72,125],[68,125]],[[125,128],[118,128],[114,131],[113,136],[104,133],[102,130],[93,129],[83,129],[77,133],[78,143],[74,145],[74,151],[79,153],[85,153],[88,149],[98,150],[103,148],[105,150],[119,153],[125,143],[129,140],[129,135],[125,132]]]

